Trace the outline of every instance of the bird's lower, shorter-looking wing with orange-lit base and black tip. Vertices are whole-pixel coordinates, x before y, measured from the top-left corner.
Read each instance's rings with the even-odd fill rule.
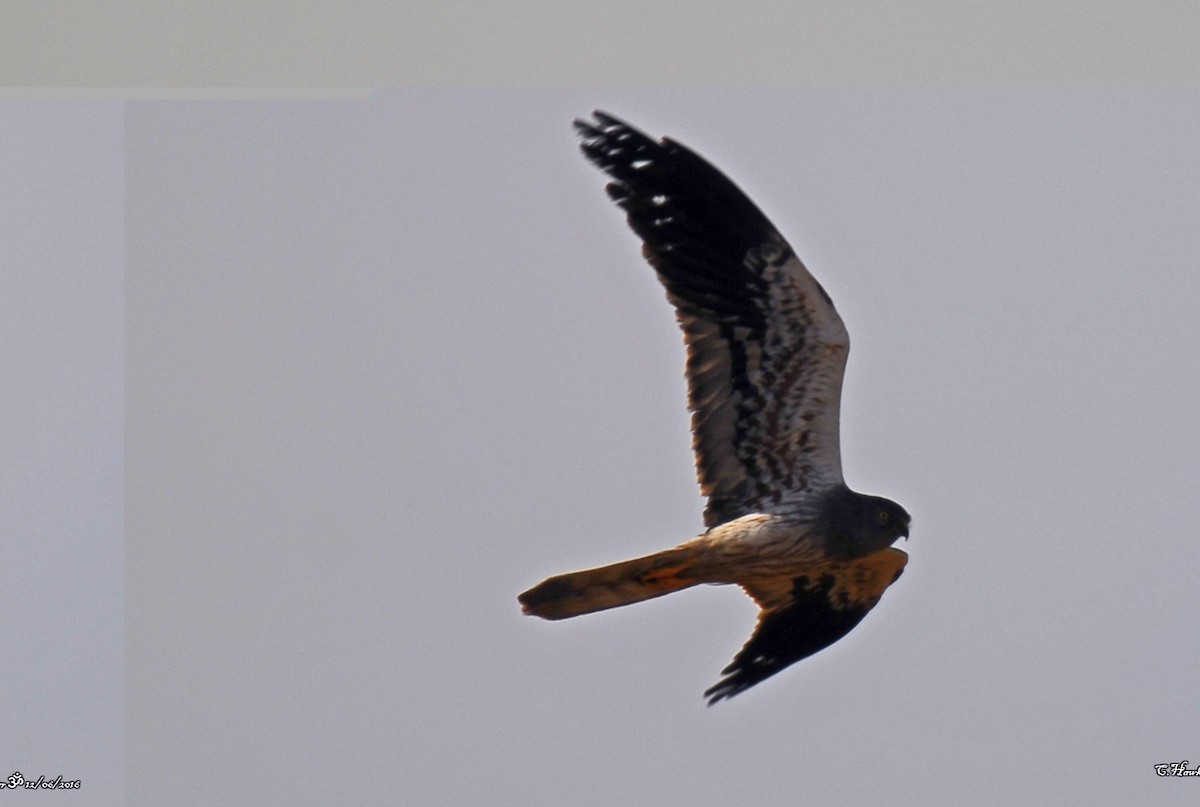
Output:
[[[863,621],[904,572],[908,555],[894,546],[854,561],[832,562],[796,580],[743,584],[758,606],[750,640],[704,692],[712,706],[824,650]]]

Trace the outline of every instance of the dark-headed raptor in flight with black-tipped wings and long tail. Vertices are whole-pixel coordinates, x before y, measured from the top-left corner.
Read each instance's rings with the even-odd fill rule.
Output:
[[[688,348],[706,532],[646,557],[560,574],[518,596],[564,620],[698,584],[757,603],[752,635],[709,705],[838,641],[908,556],[908,514],[846,486],[838,411],[850,339],[821,285],[758,208],[679,143],[602,112],[576,120],[676,309]]]

